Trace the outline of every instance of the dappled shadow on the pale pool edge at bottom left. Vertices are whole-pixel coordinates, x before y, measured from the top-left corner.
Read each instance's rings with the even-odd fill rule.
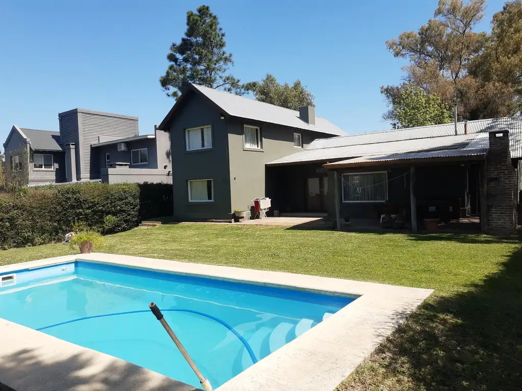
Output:
[[[160,380],[158,377],[149,377],[149,371],[126,361],[116,361],[103,368],[97,365],[96,368],[87,369],[90,365],[92,365],[92,355],[78,353],[63,361],[53,361],[44,360],[38,350],[22,348],[0,357],[0,391],[199,390],[169,378]]]

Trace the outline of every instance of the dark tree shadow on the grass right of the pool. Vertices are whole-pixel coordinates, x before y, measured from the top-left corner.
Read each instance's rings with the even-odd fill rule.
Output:
[[[366,389],[364,383],[522,389],[522,248],[466,292],[428,299],[340,389]]]

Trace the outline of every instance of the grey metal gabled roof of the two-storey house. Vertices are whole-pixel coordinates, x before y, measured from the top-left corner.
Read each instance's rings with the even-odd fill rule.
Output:
[[[246,118],[270,124],[288,126],[296,129],[325,133],[327,135],[346,135],[344,131],[322,117],[315,116],[315,125],[310,125],[299,118],[298,111],[291,110],[289,108],[259,102],[244,96],[218,91],[196,84],[190,84],[189,90],[195,91],[196,93],[205,96],[212,103],[218,106],[224,114],[232,117]],[[185,91],[183,95],[186,95],[187,92],[188,91]],[[178,103],[183,99],[183,95],[179,100],[177,100],[169,114],[167,114],[163,121],[161,121],[158,129],[163,130],[170,122],[172,115],[177,109],[177,106],[179,106]]]

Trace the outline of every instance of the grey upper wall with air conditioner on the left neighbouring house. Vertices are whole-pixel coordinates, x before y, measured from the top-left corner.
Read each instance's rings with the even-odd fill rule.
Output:
[[[96,148],[92,148],[91,151],[91,178],[98,179],[100,178],[100,169],[105,167],[105,154],[109,153],[111,158],[111,163],[129,163],[130,168],[163,168],[158,167],[158,154],[156,152],[156,140],[154,139],[146,139],[146,140],[137,140],[137,141],[129,141],[127,142],[128,151],[120,151],[118,152],[117,144],[97,146]],[[149,162],[148,164],[139,164],[132,165],[131,164],[131,151],[133,149],[141,149],[147,148]]]

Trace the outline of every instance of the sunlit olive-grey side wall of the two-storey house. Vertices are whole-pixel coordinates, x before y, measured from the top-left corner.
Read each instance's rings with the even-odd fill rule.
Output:
[[[288,156],[302,149],[293,143],[293,133],[301,133],[303,147],[315,138],[329,137],[288,127],[272,124],[257,124],[248,120],[231,120],[228,122],[229,155],[230,155],[230,187],[231,209],[247,209],[251,200],[265,197],[266,178],[265,164],[277,158]],[[243,126],[252,125],[261,128],[263,148],[260,151],[244,150]]]

